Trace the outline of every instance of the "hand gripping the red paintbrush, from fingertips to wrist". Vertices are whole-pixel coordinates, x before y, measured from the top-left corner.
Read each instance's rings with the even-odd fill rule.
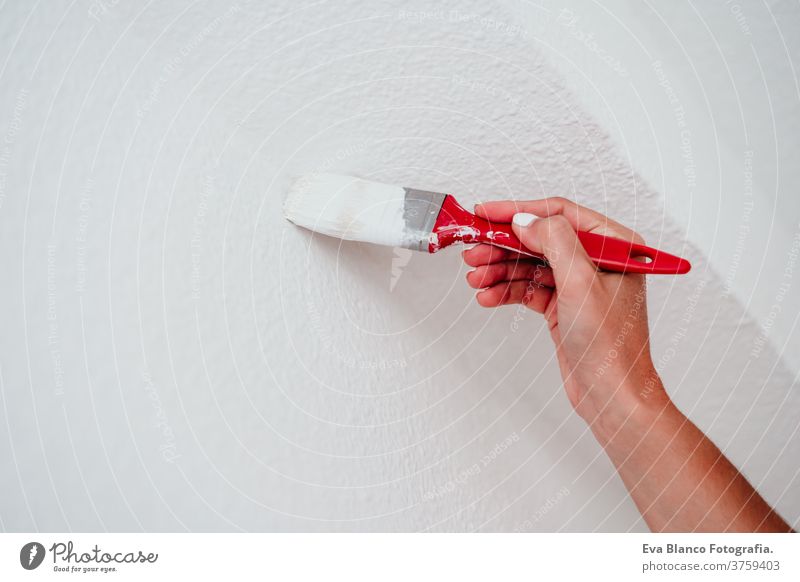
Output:
[[[613,432],[640,404],[668,402],[650,357],[644,275],[598,271],[575,231],[644,244],[641,236],[562,198],[488,202],[475,213],[512,222],[520,241],[547,258],[542,266],[485,244],[463,253],[476,267],[467,282],[481,289],[480,305],[521,303],[544,314],[567,396],[593,429]]]

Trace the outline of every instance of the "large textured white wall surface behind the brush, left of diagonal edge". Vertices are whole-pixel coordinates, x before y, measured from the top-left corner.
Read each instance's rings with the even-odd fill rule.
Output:
[[[319,170],[467,204],[565,195],[692,258],[651,280],[654,357],[797,525],[795,375],[570,88],[545,31],[588,51],[575,77],[609,65],[559,18],[472,0],[0,7],[0,525],[644,529],[540,318],[479,308],[452,249],[285,222],[292,178]]]

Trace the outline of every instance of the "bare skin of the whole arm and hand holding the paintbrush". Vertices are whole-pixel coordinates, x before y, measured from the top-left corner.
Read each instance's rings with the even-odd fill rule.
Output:
[[[521,303],[544,315],[567,397],[650,529],[791,531],[670,400],[650,356],[644,275],[598,271],[575,231],[644,244],[642,237],[563,198],[488,202],[475,213],[513,220],[518,238],[549,265],[489,245],[468,249],[476,300],[489,308]],[[522,226],[518,213],[539,218]]]

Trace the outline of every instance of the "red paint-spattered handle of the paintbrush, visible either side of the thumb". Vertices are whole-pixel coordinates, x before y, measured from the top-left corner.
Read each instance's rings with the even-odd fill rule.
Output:
[[[449,195],[444,199],[433,233],[436,235],[435,242],[428,247],[431,253],[455,243],[488,243],[545,260],[544,256],[529,251],[519,242],[510,224],[492,223],[479,218],[462,208]],[[618,238],[578,231],[578,239],[589,258],[607,271],[682,275],[692,268],[686,259]]]

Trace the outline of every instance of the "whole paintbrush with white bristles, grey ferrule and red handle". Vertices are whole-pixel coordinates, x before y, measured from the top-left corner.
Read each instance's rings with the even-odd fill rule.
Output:
[[[312,174],[292,186],[284,213],[298,226],[345,240],[428,253],[455,243],[488,243],[546,262],[522,245],[510,224],[475,216],[450,194]],[[686,259],[652,247],[590,232],[577,235],[592,261],[607,271],[678,275],[691,268]]]

